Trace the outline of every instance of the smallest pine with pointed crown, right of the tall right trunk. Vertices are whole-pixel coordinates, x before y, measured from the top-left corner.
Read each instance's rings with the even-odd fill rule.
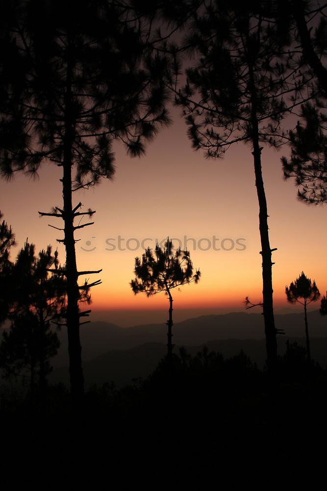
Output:
[[[287,300],[290,303],[301,303],[304,305],[304,323],[305,323],[305,339],[306,339],[306,353],[308,360],[311,360],[310,355],[310,341],[309,341],[309,331],[308,331],[308,320],[306,315],[306,306],[316,301],[320,298],[320,292],[316,286],[316,282],[311,283],[311,278],[307,278],[305,274],[302,273],[300,276],[292,283],[290,286],[285,287],[285,293]],[[303,301],[299,300],[303,299]]]

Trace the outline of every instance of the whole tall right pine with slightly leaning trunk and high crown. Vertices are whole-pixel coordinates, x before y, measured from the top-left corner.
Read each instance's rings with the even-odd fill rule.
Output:
[[[208,158],[225,154],[233,143],[251,145],[259,203],[263,315],[269,369],[277,361],[273,310],[272,251],[268,209],[261,170],[261,143],[284,141],[280,121],[293,107],[296,87],[287,50],[288,30],[278,30],[270,3],[212,1],[193,15],[185,41],[197,59],[186,70],[187,83],[176,94],[195,149]]]

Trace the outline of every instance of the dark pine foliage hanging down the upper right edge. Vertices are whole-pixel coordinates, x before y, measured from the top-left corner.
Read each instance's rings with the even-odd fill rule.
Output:
[[[295,22],[295,41],[302,48],[299,71],[307,67],[314,82],[308,88],[312,102],[302,105],[301,120],[294,131],[290,131],[292,153],[290,159],[282,158],[284,177],[296,178],[298,198],[307,204],[327,202],[327,136],[326,108],[327,67],[324,59],[327,53],[326,5],[313,6],[308,1],[288,0],[285,9]],[[317,22],[316,19],[319,19]],[[316,21],[314,29],[310,25]]]

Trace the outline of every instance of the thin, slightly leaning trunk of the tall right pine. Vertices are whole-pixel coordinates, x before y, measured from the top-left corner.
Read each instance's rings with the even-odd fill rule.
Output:
[[[267,350],[267,367],[270,374],[275,372],[277,363],[277,339],[274,319],[273,305],[273,277],[272,277],[272,250],[269,242],[268,227],[268,210],[265,188],[263,185],[262,168],[261,168],[261,150],[259,145],[259,125],[257,119],[257,96],[255,90],[253,69],[251,61],[249,62],[250,90],[252,96],[252,144],[253,144],[253,163],[255,174],[255,187],[259,202],[259,231],[261,241],[262,255],[262,297],[263,297],[263,317],[265,323],[266,350]]]

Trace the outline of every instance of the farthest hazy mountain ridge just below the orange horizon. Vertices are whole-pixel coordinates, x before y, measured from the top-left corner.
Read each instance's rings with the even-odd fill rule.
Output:
[[[304,336],[303,314],[276,314],[277,329],[289,337]],[[308,314],[310,337],[327,336],[327,319],[319,310]],[[236,312],[221,315],[203,315],[187,319],[173,326],[173,342],[178,346],[200,346],[211,340],[264,339],[263,316],[259,313]],[[53,366],[68,364],[67,333],[59,333],[61,347]],[[146,343],[163,343],[167,340],[166,324],[144,324],[119,327],[106,322],[91,322],[80,327],[83,361],[112,350],[128,350]],[[281,338],[280,338],[281,339]]]

